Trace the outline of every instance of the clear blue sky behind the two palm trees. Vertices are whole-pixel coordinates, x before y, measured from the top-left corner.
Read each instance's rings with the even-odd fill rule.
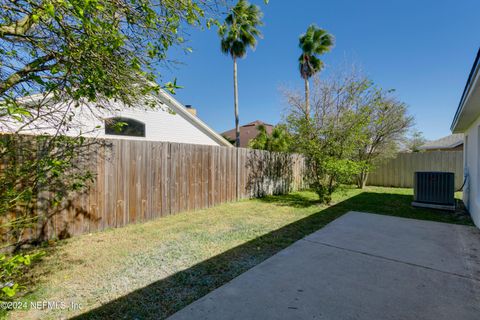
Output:
[[[361,66],[379,86],[395,89],[409,105],[416,126],[428,139],[450,133],[475,54],[480,46],[478,0],[270,0],[264,12],[264,38],[239,61],[240,123],[276,124],[285,103],[281,87],[302,88],[298,37],[315,23],[336,38],[327,53],[325,75],[348,63]],[[234,127],[232,61],[220,52],[215,30],[191,30],[182,62],[159,70],[176,77],[177,92],[199,117],[218,132]]]

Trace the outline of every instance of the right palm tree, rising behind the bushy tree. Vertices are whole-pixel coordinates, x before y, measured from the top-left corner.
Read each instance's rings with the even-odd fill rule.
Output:
[[[333,36],[327,31],[312,24],[299,39],[302,55],[298,59],[300,76],[305,80],[305,113],[310,115],[310,84],[309,79],[323,68],[323,62],[317,57],[330,51],[333,46]]]

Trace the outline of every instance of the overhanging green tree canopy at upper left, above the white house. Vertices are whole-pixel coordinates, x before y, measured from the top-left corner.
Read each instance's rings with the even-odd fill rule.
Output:
[[[182,25],[206,21],[213,2],[2,1],[0,97],[8,103],[0,115],[33,93],[132,102],[156,90],[153,71],[171,46],[183,44]]]

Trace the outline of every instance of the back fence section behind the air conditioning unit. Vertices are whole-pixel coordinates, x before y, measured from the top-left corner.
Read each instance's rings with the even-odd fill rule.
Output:
[[[399,153],[378,166],[368,176],[371,186],[413,188],[415,171],[455,173],[455,188],[463,184],[463,151]]]

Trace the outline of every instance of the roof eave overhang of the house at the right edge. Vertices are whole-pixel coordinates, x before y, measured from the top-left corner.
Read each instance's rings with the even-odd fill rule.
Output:
[[[480,49],[468,76],[460,104],[450,129],[453,133],[465,132],[480,116]]]

